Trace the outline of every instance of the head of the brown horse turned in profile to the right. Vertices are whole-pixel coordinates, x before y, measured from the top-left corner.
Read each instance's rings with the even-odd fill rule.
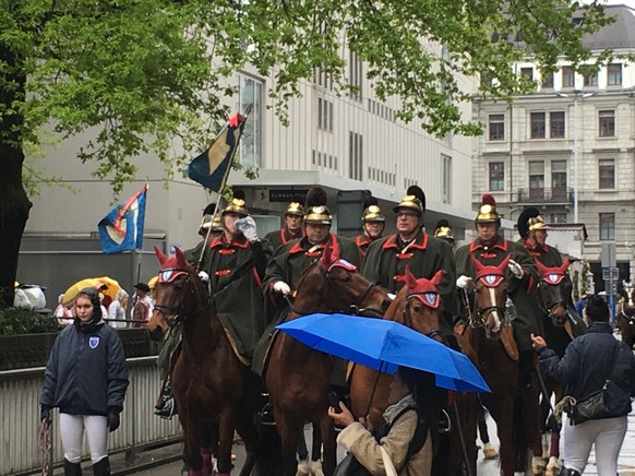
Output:
[[[300,278],[292,311],[383,316],[390,305],[385,290],[340,259],[337,249],[327,246],[316,264]]]

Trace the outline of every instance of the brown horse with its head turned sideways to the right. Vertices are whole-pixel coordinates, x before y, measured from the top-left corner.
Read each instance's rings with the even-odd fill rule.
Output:
[[[386,291],[326,248],[320,261],[300,278],[286,321],[311,312],[346,312],[351,307],[360,314],[373,311],[382,314],[390,302]],[[284,476],[296,475],[296,449],[305,421],[313,424],[314,439],[321,439],[324,445],[324,474],[328,476],[335,468],[335,429],[327,414],[333,368],[330,355],[311,349],[285,333],[274,337],[265,382],[281,439]]]

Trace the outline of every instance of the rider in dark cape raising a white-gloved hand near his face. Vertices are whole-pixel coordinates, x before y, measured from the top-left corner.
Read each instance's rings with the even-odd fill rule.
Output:
[[[255,222],[249,215],[241,190],[235,191],[221,219],[224,233],[209,243],[201,270],[208,276],[216,313],[231,333],[235,352],[249,365],[265,328],[261,282],[271,246],[257,237]],[[175,338],[180,340],[180,332]],[[176,413],[169,373],[177,355],[178,352],[173,352],[169,359],[164,359],[166,380],[155,410],[159,416],[170,417]]]

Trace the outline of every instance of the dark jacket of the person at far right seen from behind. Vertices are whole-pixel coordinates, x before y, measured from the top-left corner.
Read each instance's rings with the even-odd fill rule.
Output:
[[[542,370],[565,383],[566,394],[576,400],[600,390],[609,376],[624,397],[635,395],[635,356],[626,344],[613,337],[608,322],[592,322],[587,334],[572,341],[562,358],[548,347],[538,352],[538,358]]]

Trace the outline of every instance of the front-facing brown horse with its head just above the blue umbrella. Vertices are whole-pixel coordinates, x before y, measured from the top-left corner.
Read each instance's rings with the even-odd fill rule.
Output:
[[[436,291],[436,286],[441,283],[444,271],[439,271],[432,279],[417,279],[407,267],[404,274],[404,286],[398,293],[391,307],[384,314],[384,319],[399,322],[423,335],[438,342],[448,345],[441,333],[441,322],[443,317],[443,302],[441,295]],[[350,403],[352,414],[356,417],[366,417],[373,428],[384,426],[383,412],[388,406],[390,384],[393,376],[380,373],[376,370],[362,365],[355,365],[350,374]],[[443,397],[445,395],[438,395]],[[463,450],[465,448],[468,465],[471,474],[476,474],[476,439],[465,440],[460,438],[459,431],[465,430],[465,420],[457,417],[465,415],[463,409],[474,413],[471,407],[476,403],[474,393],[457,394],[457,413],[451,415],[452,431],[447,441],[440,441],[435,436],[433,474],[457,475],[462,472],[464,462]],[[468,409],[469,408],[469,409]],[[432,428],[436,431],[436,428]],[[443,445],[443,448],[440,448]],[[438,457],[441,456],[441,457]],[[469,473],[468,473],[469,474]]]

